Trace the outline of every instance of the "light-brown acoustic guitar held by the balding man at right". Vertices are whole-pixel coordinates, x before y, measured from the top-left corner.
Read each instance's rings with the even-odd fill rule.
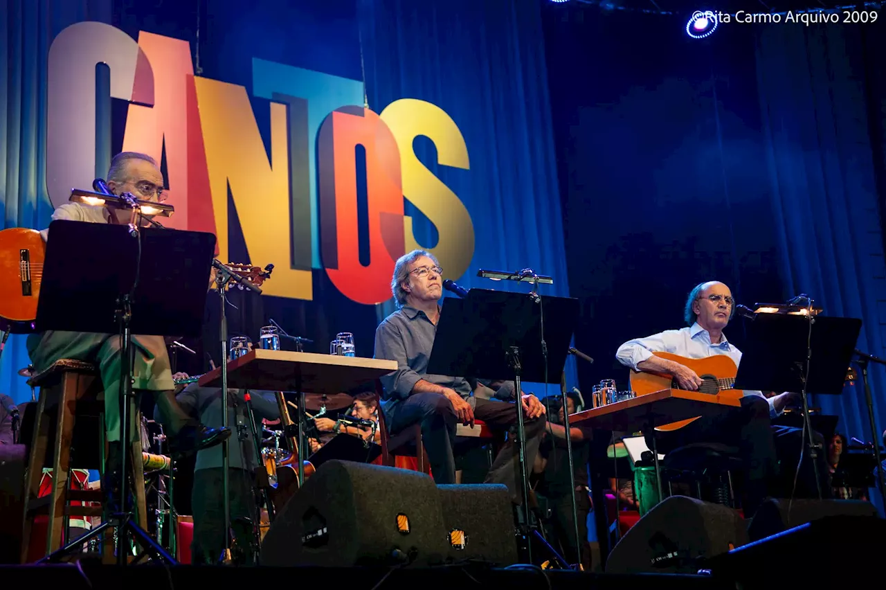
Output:
[[[718,396],[723,400],[741,400],[742,390],[733,389],[735,383],[735,375],[738,368],[735,363],[725,354],[715,354],[704,359],[688,359],[685,356],[672,353],[653,353],[655,356],[666,359],[668,361],[679,362],[681,365],[688,367],[696,372],[698,377],[702,378],[702,385],[698,388],[699,392],[710,393]],[[647,393],[660,392],[663,389],[684,389],[680,387],[672,375],[667,373],[647,373],[645,371],[631,371],[631,390],[638,396]],[[664,424],[656,428],[657,431],[676,431],[688,423],[698,419],[688,418]]]

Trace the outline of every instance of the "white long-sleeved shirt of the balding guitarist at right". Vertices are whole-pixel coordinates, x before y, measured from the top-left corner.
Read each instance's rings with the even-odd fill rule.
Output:
[[[704,359],[714,354],[726,354],[735,362],[735,367],[738,367],[742,361],[742,351],[729,344],[725,334],[720,335],[719,344],[713,344],[711,334],[698,325],[698,322],[692,324],[691,328],[664,330],[664,332],[658,332],[646,338],[628,340],[625,344],[618,346],[615,356],[621,364],[639,371],[637,365],[649,359],[652,353],[680,354],[680,356],[690,359]],[[743,395],[757,395],[766,400],[766,396],[760,391],[742,390],[742,393]],[[776,418],[781,415],[781,412],[775,411],[773,398],[766,400],[766,402],[769,404],[771,417]]]

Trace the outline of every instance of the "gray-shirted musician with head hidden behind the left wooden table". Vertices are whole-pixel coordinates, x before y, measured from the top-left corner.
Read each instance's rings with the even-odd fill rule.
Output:
[[[251,348],[251,346],[250,346]],[[176,380],[186,379],[184,373],[175,375]],[[250,391],[256,428],[261,431],[262,420],[277,420],[280,410],[274,392]],[[229,443],[229,493],[230,524],[236,540],[231,552],[234,563],[252,564],[253,522],[259,518],[258,502],[255,498],[255,443],[253,428],[249,423],[246,408],[245,390],[228,389],[228,423],[237,431],[237,440]],[[190,415],[198,416],[202,423],[221,426],[223,421],[220,387],[200,387],[191,383],[175,396],[178,403]],[[158,416],[159,420],[159,416]],[[205,448],[198,452],[194,465],[194,485],[191,491],[191,506],[194,516],[194,539],[191,544],[191,559],[195,565],[219,563],[225,548],[224,530],[224,470],[221,461],[221,446]]]

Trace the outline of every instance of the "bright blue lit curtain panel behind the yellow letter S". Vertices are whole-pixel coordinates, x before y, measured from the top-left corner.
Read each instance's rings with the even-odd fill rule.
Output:
[[[470,268],[451,278],[469,289],[528,291],[477,271],[533,268],[554,277],[542,294],[568,295],[540,4],[361,0],[359,15],[369,107],[380,113],[398,98],[426,100],[455,120],[467,144],[470,170],[460,170],[439,167],[427,138],[415,142],[416,155],[462,199],[474,224]],[[418,243],[436,245],[436,229],[406,207]],[[393,309],[379,305],[379,321]],[[574,365],[567,362],[569,386],[577,384]],[[524,391],[545,394],[538,384]]]

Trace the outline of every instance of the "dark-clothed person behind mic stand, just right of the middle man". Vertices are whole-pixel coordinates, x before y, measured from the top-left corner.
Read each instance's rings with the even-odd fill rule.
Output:
[[[567,394],[567,411],[575,413],[579,396]],[[591,511],[591,496],[588,492],[587,462],[591,456],[593,433],[589,428],[570,424],[572,441],[572,471],[574,486],[569,477],[569,454],[566,449],[566,427],[563,426],[563,406],[556,416],[548,418],[545,439],[541,443],[539,457],[535,464],[541,468],[541,477],[536,491],[548,499],[551,518],[548,523],[548,537],[554,547],[559,544],[563,558],[575,562],[578,551],[575,546],[575,526],[572,524],[572,494],[579,522],[579,543],[581,544],[581,567],[591,571],[591,546],[587,542],[587,515]],[[539,463],[541,463],[539,465]]]

